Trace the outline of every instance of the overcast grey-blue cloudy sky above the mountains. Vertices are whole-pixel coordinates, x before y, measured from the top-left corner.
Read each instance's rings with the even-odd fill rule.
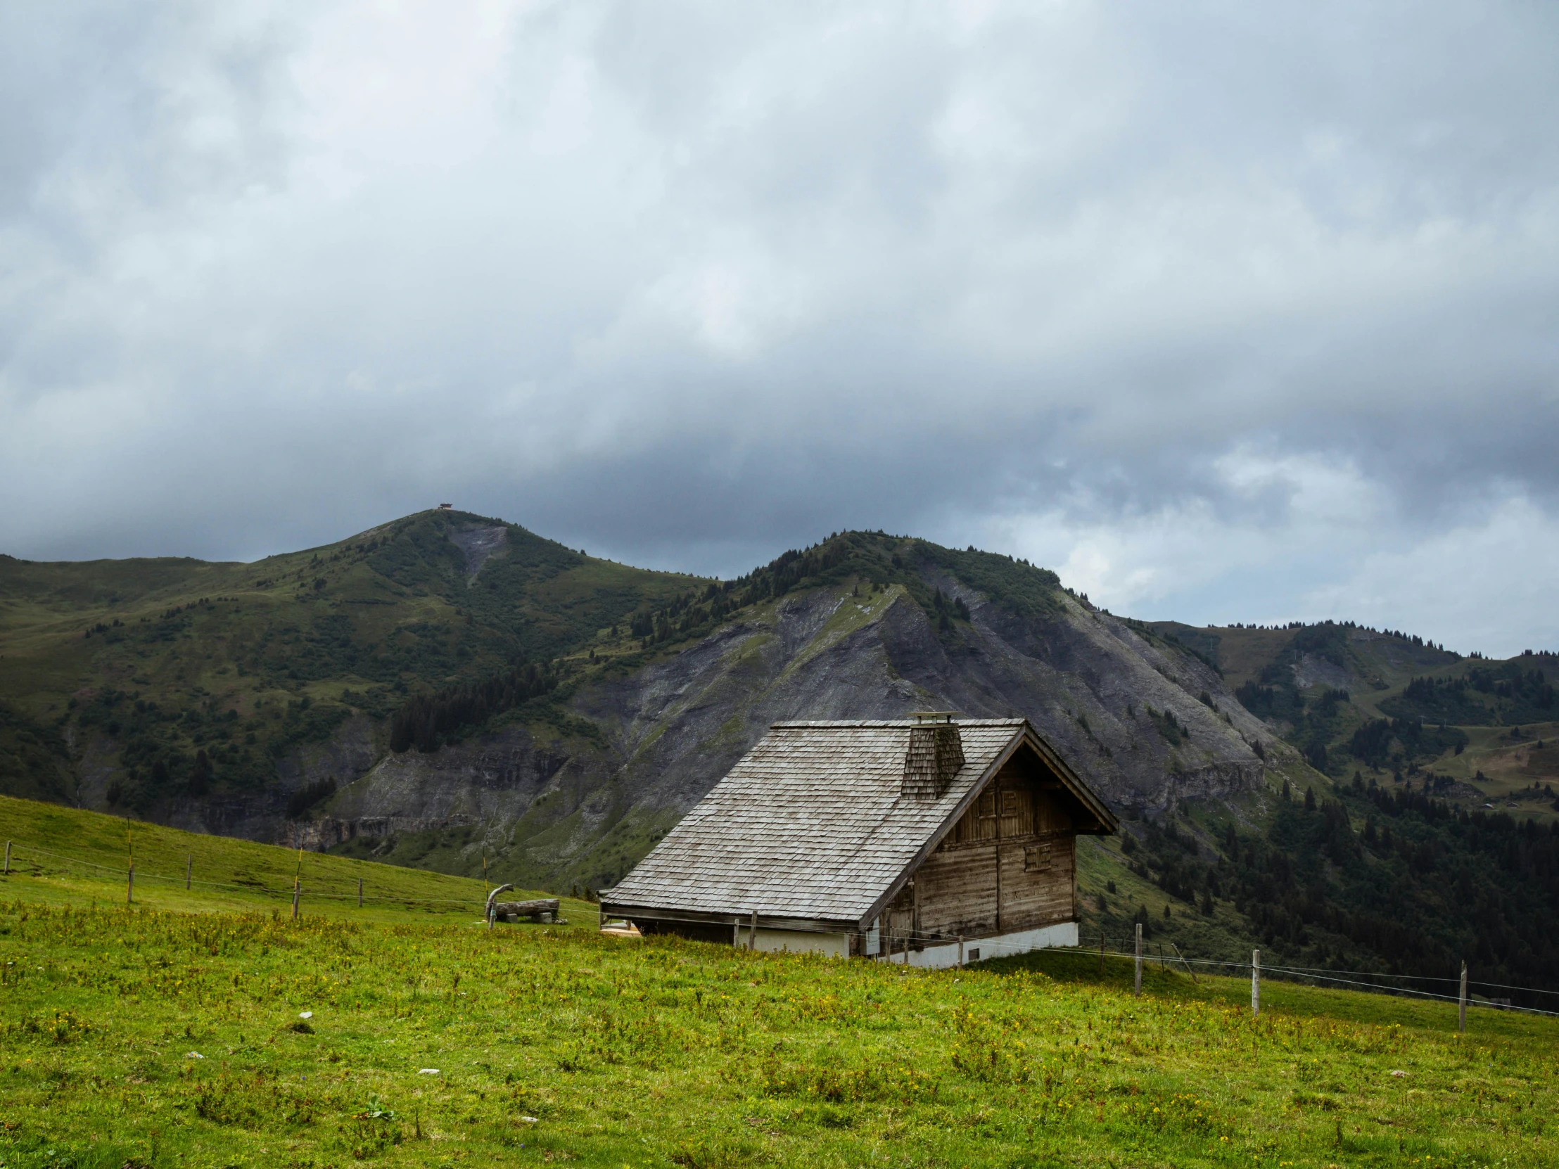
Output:
[[[1559,6],[0,8],[0,550],[847,527],[1559,648]]]

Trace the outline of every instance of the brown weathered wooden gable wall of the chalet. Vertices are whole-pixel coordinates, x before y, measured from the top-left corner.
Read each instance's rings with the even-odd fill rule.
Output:
[[[1077,916],[1071,818],[1048,768],[1018,754],[889,906],[884,932],[909,934],[918,949],[932,937],[988,937]]]

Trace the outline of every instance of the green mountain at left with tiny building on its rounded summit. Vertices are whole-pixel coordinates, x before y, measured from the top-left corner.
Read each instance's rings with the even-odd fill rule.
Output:
[[[254,793],[354,717],[567,655],[694,583],[460,511],[256,564],[5,556],[0,767],[20,767],[3,761],[28,725],[55,729],[27,743],[31,786],[6,790],[153,817],[186,793]]]

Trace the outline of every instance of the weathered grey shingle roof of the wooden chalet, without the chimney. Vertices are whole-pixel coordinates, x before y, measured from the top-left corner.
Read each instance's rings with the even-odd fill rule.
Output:
[[[1024,737],[1024,719],[956,723],[963,767],[942,796],[901,795],[914,722],[775,723],[622,882],[611,913],[722,915],[865,929],[898,878]],[[1077,787],[1071,768],[1059,770]],[[1068,784],[1073,786],[1073,784]],[[1074,789],[1076,790],[1076,789]],[[1082,792],[1087,792],[1084,787]],[[1085,803],[1113,815],[1098,798]]]

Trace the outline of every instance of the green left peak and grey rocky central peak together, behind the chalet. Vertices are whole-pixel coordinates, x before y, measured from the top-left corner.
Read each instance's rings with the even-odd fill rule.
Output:
[[[530,884],[616,879],[776,719],[1026,714],[1127,814],[1302,767],[1172,639],[882,533],[737,581],[458,511],[257,564],[5,558],[0,666],[11,789]]]

